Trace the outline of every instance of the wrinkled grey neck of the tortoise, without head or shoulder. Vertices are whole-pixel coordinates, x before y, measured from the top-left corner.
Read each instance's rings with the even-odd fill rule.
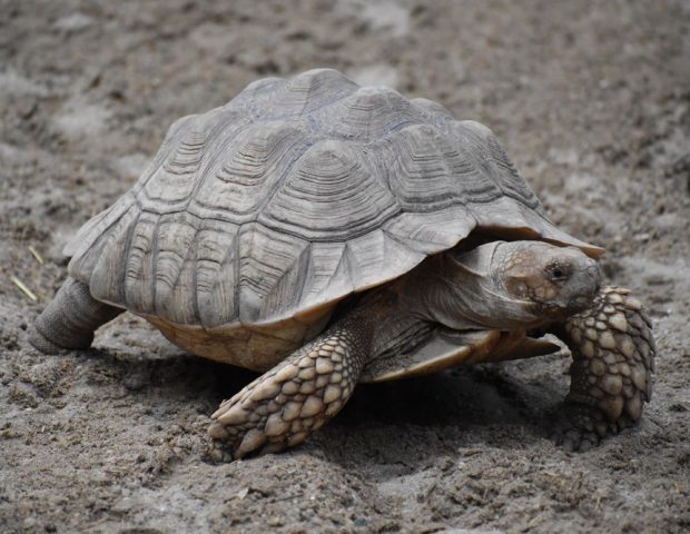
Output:
[[[453,330],[531,329],[544,324],[529,301],[506,295],[497,273],[501,241],[469,253],[440,254],[400,280],[401,304],[422,320]]]

